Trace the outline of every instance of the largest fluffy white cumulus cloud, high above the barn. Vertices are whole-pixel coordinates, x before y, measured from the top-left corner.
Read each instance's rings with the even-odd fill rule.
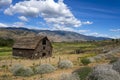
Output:
[[[27,0],[10,5],[4,11],[7,15],[20,14],[21,16],[42,17],[55,28],[79,27],[81,21],[76,19],[63,0]]]

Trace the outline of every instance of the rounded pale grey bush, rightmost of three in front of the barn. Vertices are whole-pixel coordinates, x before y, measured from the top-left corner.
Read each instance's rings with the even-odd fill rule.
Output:
[[[69,60],[62,60],[58,63],[58,68],[60,69],[68,69],[73,67],[73,63]]]

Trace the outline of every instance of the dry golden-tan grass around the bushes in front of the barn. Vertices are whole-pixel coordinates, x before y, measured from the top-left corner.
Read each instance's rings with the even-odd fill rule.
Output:
[[[45,78],[49,78],[49,77],[53,77],[53,78],[58,78],[62,73],[71,73],[74,70],[82,67],[83,65],[81,65],[81,63],[78,61],[78,58],[83,58],[83,57],[90,57],[90,56],[94,56],[95,54],[64,54],[64,55],[55,55],[51,58],[44,58],[44,59],[38,59],[38,60],[30,60],[30,59],[6,59],[6,60],[2,60],[0,61],[0,66],[2,65],[8,65],[10,68],[11,65],[11,61],[12,61],[12,65],[13,64],[23,64],[25,66],[33,66],[34,65],[38,65],[38,64],[43,64],[43,63],[50,63],[54,66],[57,67],[57,63],[59,62],[59,60],[65,60],[68,59],[70,61],[73,62],[74,67],[71,69],[57,69],[55,72],[53,73],[49,73],[49,74],[44,74],[43,77]],[[117,54],[117,56],[120,56],[120,54]],[[102,60],[99,62],[95,62],[95,63],[90,63],[88,66],[93,67],[95,65],[98,64],[103,64],[103,63],[108,63],[109,61],[107,60]],[[4,75],[4,69],[0,69],[0,76]],[[40,78],[40,75],[34,75],[31,77],[15,77],[12,76],[12,74],[7,71],[7,74],[9,74],[12,78],[14,78],[14,80],[35,80],[34,78],[36,78],[36,80],[38,80],[38,78]]]

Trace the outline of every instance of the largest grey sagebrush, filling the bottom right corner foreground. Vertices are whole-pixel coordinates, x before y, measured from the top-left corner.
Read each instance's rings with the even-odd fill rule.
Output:
[[[120,75],[111,65],[99,65],[93,68],[87,80],[120,80]]]

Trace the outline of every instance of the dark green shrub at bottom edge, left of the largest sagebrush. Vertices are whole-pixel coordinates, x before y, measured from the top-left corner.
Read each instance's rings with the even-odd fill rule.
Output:
[[[90,67],[83,67],[75,70],[73,73],[77,73],[81,80],[85,80],[91,71]]]

